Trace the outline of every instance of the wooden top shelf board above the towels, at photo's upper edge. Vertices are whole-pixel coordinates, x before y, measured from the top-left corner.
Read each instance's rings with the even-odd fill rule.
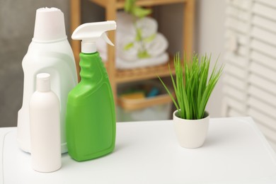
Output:
[[[110,1],[108,0],[90,0],[99,6],[102,6],[106,8]],[[177,4],[177,3],[184,3],[188,0],[138,0],[136,1],[136,4],[138,6],[158,6],[158,5],[164,5],[164,4]],[[125,6],[124,0],[117,0],[115,1],[115,8],[122,9]]]

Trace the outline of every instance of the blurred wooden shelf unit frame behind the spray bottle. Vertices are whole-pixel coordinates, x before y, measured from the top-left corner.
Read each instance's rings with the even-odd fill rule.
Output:
[[[105,20],[116,20],[118,9],[124,8],[124,0],[89,0],[105,8]],[[166,4],[184,4],[183,9],[183,47],[186,56],[192,54],[195,0],[137,0],[139,6],[159,6]],[[81,0],[71,0],[71,33],[81,25]],[[115,44],[115,31],[108,32],[108,38]],[[79,41],[72,40],[71,47],[76,59],[77,72],[79,74],[79,52],[81,45]],[[157,76],[169,76],[168,64],[171,71],[175,73],[172,58],[167,64],[156,67],[144,67],[141,69],[121,70],[115,67],[115,49],[108,45],[108,61],[105,67],[108,70],[110,84],[113,88],[114,98],[117,99],[117,84],[145,79],[155,79]]]

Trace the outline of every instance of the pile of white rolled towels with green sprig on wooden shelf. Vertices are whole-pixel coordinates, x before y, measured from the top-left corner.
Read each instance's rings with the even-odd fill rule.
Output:
[[[157,33],[157,28],[158,24],[154,18],[139,19],[134,25],[132,16],[125,12],[118,12],[115,36],[117,68],[133,69],[167,62],[168,54],[165,52],[168,41],[161,33]],[[137,40],[137,30],[141,40]],[[106,61],[107,44],[99,39],[96,45],[103,61]],[[146,53],[147,58],[140,58],[141,52]]]

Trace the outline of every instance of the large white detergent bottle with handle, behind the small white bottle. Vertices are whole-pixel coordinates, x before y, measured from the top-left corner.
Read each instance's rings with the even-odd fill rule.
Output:
[[[33,40],[22,62],[24,71],[23,104],[18,111],[18,146],[30,152],[30,97],[35,92],[39,73],[51,75],[51,89],[60,102],[62,153],[67,152],[65,113],[67,95],[77,84],[76,65],[65,33],[64,14],[58,8],[39,8],[35,16]]]

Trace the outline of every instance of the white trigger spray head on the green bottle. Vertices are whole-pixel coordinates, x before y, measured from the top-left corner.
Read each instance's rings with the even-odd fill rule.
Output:
[[[103,38],[105,42],[109,45],[113,45],[106,35],[106,31],[115,30],[116,23],[115,21],[103,21],[98,23],[84,23],[79,25],[71,38],[73,40],[82,40],[81,41],[81,52],[83,53],[94,53],[96,52],[96,41],[98,38]],[[113,45],[114,46],[114,45]]]

